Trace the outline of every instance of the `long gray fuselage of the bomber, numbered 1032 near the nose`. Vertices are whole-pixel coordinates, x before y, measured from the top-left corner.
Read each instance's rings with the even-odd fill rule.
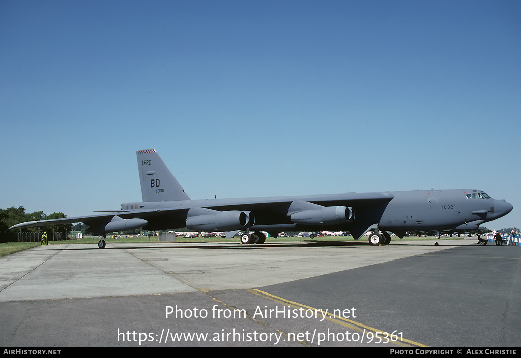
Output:
[[[236,199],[204,199],[180,201],[149,201],[122,203],[121,209],[140,208],[156,213],[176,208],[175,214],[162,219],[148,220],[145,229],[167,229],[184,226],[185,213],[193,207],[218,211],[252,210],[255,224],[251,230],[280,231],[351,231],[353,236],[377,224],[382,231],[403,236],[410,230],[476,229],[480,224],[506,215],[512,204],[504,199],[467,198],[467,194],[481,194],[480,190],[412,190],[384,193],[347,193],[336,195],[262,197]],[[288,209],[295,200],[312,202],[324,207],[351,207],[354,220],[338,225],[302,225],[291,223]],[[181,209],[181,210],[179,210]],[[184,210],[182,210],[184,209]],[[139,209],[138,209],[139,210]],[[182,212],[182,213],[181,213]],[[121,215],[120,215],[121,216]],[[140,216],[143,217],[143,216]],[[145,218],[146,219],[146,218]],[[362,229],[361,229],[362,227]],[[364,234],[364,233],[362,233]],[[356,237],[357,238],[357,237]]]

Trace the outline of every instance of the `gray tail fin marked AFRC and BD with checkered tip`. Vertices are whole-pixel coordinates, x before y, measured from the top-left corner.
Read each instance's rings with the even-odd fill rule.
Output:
[[[143,201],[190,200],[155,149],[137,154]]]

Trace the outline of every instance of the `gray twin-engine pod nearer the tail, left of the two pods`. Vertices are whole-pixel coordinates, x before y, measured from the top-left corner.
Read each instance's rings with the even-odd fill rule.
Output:
[[[188,211],[186,227],[196,231],[233,231],[253,226],[255,216],[251,211],[217,211],[192,208]]]

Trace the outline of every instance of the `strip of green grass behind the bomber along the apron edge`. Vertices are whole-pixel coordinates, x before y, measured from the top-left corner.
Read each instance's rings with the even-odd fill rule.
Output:
[[[465,237],[461,237],[466,238]],[[393,237],[392,241],[411,241],[411,240],[457,240],[458,237],[426,237],[426,236],[406,236],[403,239],[399,237]],[[93,237],[84,237],[81,239],[71,239],[71,240],[61,240],[61,241],[49,241],[49,245],[63,245],[63,244],[92,244],[96,245],[100,239],[96,236]],[[314,239],[310,239],[309,237],[267,237],[266,242],[275,242],[275,241],[356,241],[352,236],[318,236]],[[367,236],[362,236],[359,242],[367,242]],[[115,244],[115,243],[123,243],[123,242],[159,242],[157,236],[140,236],[140,237],[126,237],[126,238],[107,238],[105,239],[107,244]],[[172,241],[165,241],[165,244],[168,244]],[[223,237],[193,237],[193,238],[185,238],[185,237],[176,237],[175,242],[239,242],[239,237],[233,237],[228,240]],[[0,244],[0,257],[5,255],[9,255],[11,253],[15,253],[18,251],[27,250],[36,246],[40,246],[40,242],[6,242]]]

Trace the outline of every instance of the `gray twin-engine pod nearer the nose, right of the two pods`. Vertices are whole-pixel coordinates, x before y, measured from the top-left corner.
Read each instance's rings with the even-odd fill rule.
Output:
[[[351,208],[343,206],[323,207],[293,213],[290,219],[293,224],[340,225],[353,221],[353,212]]]

